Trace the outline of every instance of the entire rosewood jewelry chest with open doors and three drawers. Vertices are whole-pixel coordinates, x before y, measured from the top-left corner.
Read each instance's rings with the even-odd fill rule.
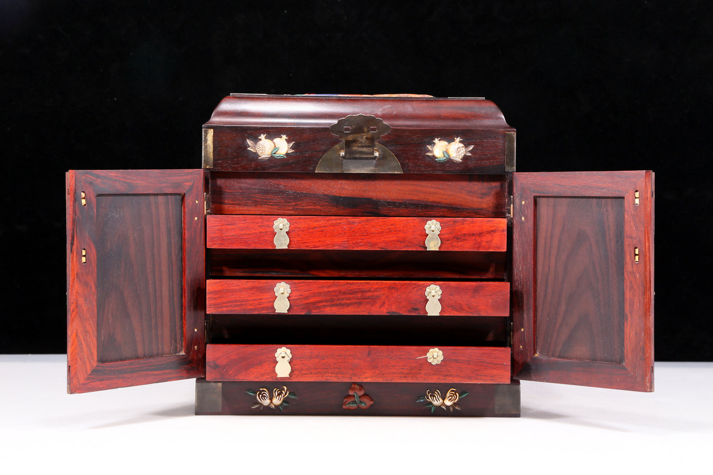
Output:
[[[68,392],[511,417],[520,379],[653,389],[653,173],[517,173],[482,98],[233,94],[202,169],[66,191]]]

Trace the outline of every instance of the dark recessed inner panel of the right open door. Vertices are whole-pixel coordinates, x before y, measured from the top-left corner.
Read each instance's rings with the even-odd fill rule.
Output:
[[[535,203],[535,351],[624,362],[624,200]]]

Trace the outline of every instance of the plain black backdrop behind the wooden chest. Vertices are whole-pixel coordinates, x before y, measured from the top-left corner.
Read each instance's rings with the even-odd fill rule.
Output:
[[[0,1],[0,352],[64,352],[64,172],[200,168],[243,93],[485,96],[518,171],[656,172],[656,359],[712,360],[710,1]]]

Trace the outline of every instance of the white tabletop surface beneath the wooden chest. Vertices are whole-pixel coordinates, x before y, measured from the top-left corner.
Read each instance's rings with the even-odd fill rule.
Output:
[[[653,393],[524,381],[520,418],[195,416],[193,379],[65,377],[66,355],[0,355],[4,473],[713,473],[713,363],[657,362]]]

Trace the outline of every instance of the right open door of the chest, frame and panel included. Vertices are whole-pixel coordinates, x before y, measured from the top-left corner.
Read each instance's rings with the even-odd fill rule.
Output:
[[[515,173],[513,377],[653,390],[653,173]]]

